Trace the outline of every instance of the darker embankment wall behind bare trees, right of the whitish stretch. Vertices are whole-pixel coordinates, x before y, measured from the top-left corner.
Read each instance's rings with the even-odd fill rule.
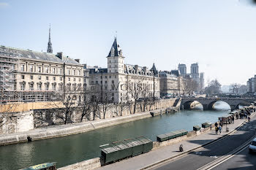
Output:
[[[155,104],[151,104],[151,105],[147,104],[145,107],[145,110],[144,110],[143,104],[137,104],[135,114],[138,112],[148,112],[155,109],[166,109],[167,107],[173,107],[173,104],[175,101],[176,101],[176,98],[161,99],[156,101]],[[130,107],[128,106],[123,107],[122,111],[120,106],[116,104],[110,104],[107,107],[105,118],[134,115],[133,110],[134,110],[134,105],[132,104]],[[59,118],[58,115],[55,114],[55,112],[56,112],[56,109],[35,109],[34,110],[34,128],[63,123],[63,120],[61,120],[61,118]],[[75,109],[72,109],[72,114],[69,117],[69,121],[80,122],[82,112],[83,112],[83,107],[76,107]],[[102,106],[99,105],[99,109],[97,110],[96,116],[94,118],[93,117],[94,117],[94,113],[90,112],[88,115],[83,117],[83,122],[86,122],[89,120],[103,119],[104,114],[102,112]]]

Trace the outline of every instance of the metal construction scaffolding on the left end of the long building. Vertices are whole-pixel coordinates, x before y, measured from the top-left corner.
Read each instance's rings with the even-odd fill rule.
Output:
[[[18,90],[22,56],[18,49],[0,46],[0,103],[55,101],[53,90],[26,90],[25,85]]]

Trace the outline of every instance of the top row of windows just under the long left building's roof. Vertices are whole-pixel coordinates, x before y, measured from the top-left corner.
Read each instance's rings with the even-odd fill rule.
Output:
[[[20,65],[20,71],[21,72],[25,72],[25,64],[21,64]],[[34,65],[33,64],[29,64],[29,72],[34,72]],[[37,66],[37,71],[38,73],[42,73],[42,66]],[[59,70],[57,70],[57,68],[53,67],[51,72],[50,72],[50,67],[49,66],[45,66],[45,71],[44,73],[52,73],[52,74],[62,74],[62,68],[59,68]],[[67,74],[69,75],[81,75],[81,70],[79,69],[78,72],[75,69],[67,69]]]

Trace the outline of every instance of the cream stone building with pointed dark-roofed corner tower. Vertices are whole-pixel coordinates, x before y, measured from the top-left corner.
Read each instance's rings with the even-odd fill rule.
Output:
[[[148,69],[146,66],[125,64],[125,57],[116,38],[107,58],[108,68],[88,67],[91,90],[102,89],[104,93],[108,92],[113,103],[134,101],[135,93],[138,98],[159,98],[159,77],[155,66]]]

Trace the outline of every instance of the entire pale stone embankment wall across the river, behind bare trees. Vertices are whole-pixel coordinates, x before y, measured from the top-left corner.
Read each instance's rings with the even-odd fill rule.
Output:
[[[155,104],[147,104],[145,107],[145,112],[154,110],[154,109],[165,109],[167,107],[172,107],[175,99],[165,99],[156,101]],[[28,105],[28,104],[27,104]],[[26,109],[27,106],[26,105]],[[30,104],[31,106],[33,104]],[[29,105],[29,106],[30,106]],[[21,107],[20,105],[18,105]],[[25,105],[23,105],[24,107]],[[37,107],[39,109],[32,109],[29,111],[23,112],[11,112],[11,113],[0,113],[0,134],[13,134],[17,132],[29,131],[33,128],[43,127],[47,125],[56,125],[56,124],[63,124],[64,121],[61,120],[56,112],[61,112],[60,108],[47,108],[43,109],[42,106],[45,106],[45,103],[39,105]],[[122,111],[121,108],[118,107],[116,104],[110,104],[108,109],[105,113],[105,118],[110,117],[121,117],[127,115],[135,115],[133,114],[134,106],[130,107],[123,107]],[[17,109],[17,107],[15,107]],[[83,112],[83,107],[75,107],[72,109],[72,114],[69,117],[69,122],[78,123],[80,122],[81,115]],[[144,112],[143,104],[137,104],[136,112]],[[61,112],[64,114],[64,112]],[[102,107],[99,106],[98,115],[95,117],[95,120],[103,119]],[[93,120],[93,114],[90,113],[89,115],[83,118],[83,122],[89,122]],[[129,120],[131,121],[131,120]],[[117,121],[118,122],[118,121]]]

